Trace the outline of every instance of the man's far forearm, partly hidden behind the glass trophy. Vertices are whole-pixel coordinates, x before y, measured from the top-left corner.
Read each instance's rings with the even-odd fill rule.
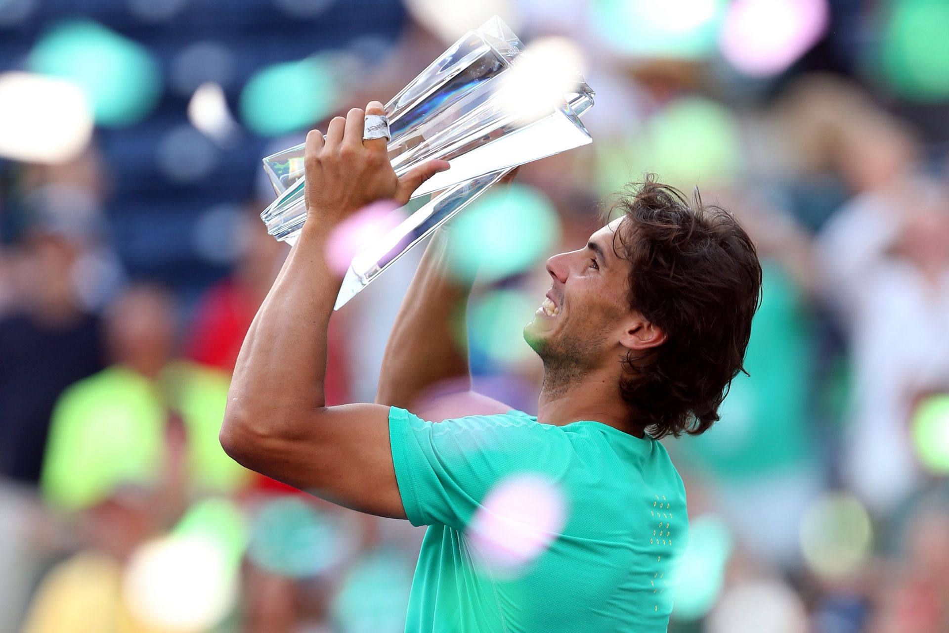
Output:
[[[471,283],[447,274],[451,233],[439,229],[419,263],[389,336],[376,401],[411,406],[427,387],[471,385],[466,307]]]

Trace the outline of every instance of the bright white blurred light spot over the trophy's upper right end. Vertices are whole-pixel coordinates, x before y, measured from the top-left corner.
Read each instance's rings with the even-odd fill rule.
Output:
[[[505,99],[526,117],[552,112],[586,73],[583,50],[566,37],[542,37],[502,75]]]

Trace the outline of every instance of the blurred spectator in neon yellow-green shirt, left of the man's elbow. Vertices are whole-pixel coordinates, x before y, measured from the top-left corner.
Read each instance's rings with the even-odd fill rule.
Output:
[[[56,404],[42,477],[47,501],[74,511],[122,485],[156,485],[174,519],[196,490],[238,490],[247,472],[217,440],[227,377],[175,360],[171,295],[127,289],[106,312],[106,332],[115,364]]]

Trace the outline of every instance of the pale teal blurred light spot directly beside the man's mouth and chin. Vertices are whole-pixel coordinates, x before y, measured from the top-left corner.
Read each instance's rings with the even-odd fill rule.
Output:
[[[524,326],[543,299],[515,289],[497,289],[474,299],[468,320],[471,353],[500,367],[532,358]]]

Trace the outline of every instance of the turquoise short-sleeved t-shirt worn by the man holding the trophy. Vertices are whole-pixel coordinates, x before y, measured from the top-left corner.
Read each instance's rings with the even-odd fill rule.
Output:
[[[666,630],[688,517],[661,442],[595,421],[540,424],[521,411],[433,423],[398,407],[389,438],[405,514],[431,526],[406,631]],[[531,493],[524,507],[539,503],[537,512],[549,514],[543,506],[553,498],[564,520],[546,548],[510,565],[485,549],[476,527],[519,512],[510,494],[498,506],[486,499],[523,480],[554,493],[541,489],[539,501]]]

